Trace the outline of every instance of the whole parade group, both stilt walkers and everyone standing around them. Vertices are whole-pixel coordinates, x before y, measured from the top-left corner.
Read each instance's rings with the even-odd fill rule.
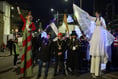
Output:
[[[79,10],[76,5],[74,5],[74,8]],[[46,32],[43,37],[41,34],[32,36],[32,32],[35,31],[36,27],[32,22],[31,12],[25,19],[19,7],[17,7],[17,10],[24,22],[21,56],[21,74],[24,77],[32,76],[32,63],[33,66],[35,66],[35,63],[39,65],[37,78],[42,74],[43,63],[45,63],[45,77],[48,76],[49,67],[52,63],[54,63],[54,76],[58,74],[66,76],[67,73],[74,75],[81,73],[83,70],[87,71],[90,66],[90,73],[93,78],[101,76],[102,63],[106,64],[107,71],[110,70],[110,62],[112,60],[116,65],[116,60],[118,60],[115,57],[118,56],[118,36],[113,34],[115,36],[114,40],[114,36],[106,30],[105,20],[99,12],[95,13],[96,17],[91,17],[85,12],[86,17],[94,21],[96,26],[90,39],[84,33],[78,37],[76,31],[73,30],[68,37],[61,32],[55,33],[57,39],[53,40],[51,39],[51,34]],[[114,43],[111,45],[113,40]],[[17,43],[17,41],[14,42]],[[13,47],[16,49],[17,45],[14,45]],[[17,52],[14,50],[14,53]],[[14,65],[16,65],[16,60],[17,54],[14,54]]]

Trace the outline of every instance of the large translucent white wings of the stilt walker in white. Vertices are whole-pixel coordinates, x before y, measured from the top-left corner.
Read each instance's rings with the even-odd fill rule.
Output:
[[[84,31],[84,34],[89,38],[91,39],[91,36],[92,36],[92,33],[94,32],[94,24],[91,25],[91,21],[95,21],[96,20],[96,17],[91,17],[91,16],[88,16],[87,12],[85,12],[84,10],[82,10],[81,8],[79,8],[77,5],[73,4],[73,10],[74,10],[74,15],[76,16],[77,18],[77,21],[78,23],[80,24],[80,27],[81,29]],[[91,19],[90,19],[91,18]],[[98,22],[97,22],[98,21]],[[102,26],[104,28],[106,28],[106,24],[105,24],[105,20],[101,17],[100,18],[100,23],[99,23],[99,20],[96,21],[96,25],[97,26]],[[91,29],[92,28],[92,29]],[[103,28],[103,29],[104,29]],[[97,28],[98,29],[98,28]],[[100,29],[100,28],[99,28]],[[102,29],[102,31],[103,31]],[[97,30],[98,32],[98,30]],[[97,34],[100,33],[96,32],[96,35],[94,34],[94,36],[97,37]],[[94,32],[95,33],[95,32]],[[106,46],[110,46],[112,44],[112,42],[114,41],[114,36],[111,35],[108,31],[106,31],[104,29],[104,35],[106,36],[105,39],[106,39]],[[98,38],[98,37],[97,37]],[[95,43],[96,41],[94,41]],[[98,43],[97,43],[98,44]]]

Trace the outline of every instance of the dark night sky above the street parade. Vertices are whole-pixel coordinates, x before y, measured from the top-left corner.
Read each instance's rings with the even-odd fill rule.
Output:
[[[80,0],[68,0],[65,2],[64,0],[6,0],[12,3],[15,6],[20,6],[21,8],[28,9],[32,11],[32,15],[34,17],[34,21],[36,19],[41,19],[43,24],[48,24],[49,21],[52,19],[52,12],[50,11],[51,8],[54,8],[54,13],[57,11],[59,13],[73,13],[72,4],[75,3],[80,6]],[[107,3],[111,3],[112,0],[82,0],[83,1],[83,9],[86,10],[88,13],[93,15],[93,1],[96,1],[95,10],[100,10],[101,12],[105,13],[105,6]],[[118,1],[115,0],[115,3]]]

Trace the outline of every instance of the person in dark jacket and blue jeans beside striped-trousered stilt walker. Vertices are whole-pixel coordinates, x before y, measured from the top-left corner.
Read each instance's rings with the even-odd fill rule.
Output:
[[[48,76],[48,69],[49,69],[49,64],[50,64],[51,55],[52,55],[52,50],[51,50],[52,41],[50,39],[50,34],[48,34],[46,38],[41,39],[41,45],[39,47],[40,47],[40,51],[38,54],[39,69],[38,69],[37,79],[41,76],[42,65],[44,62],[46,63],[45,77]]]

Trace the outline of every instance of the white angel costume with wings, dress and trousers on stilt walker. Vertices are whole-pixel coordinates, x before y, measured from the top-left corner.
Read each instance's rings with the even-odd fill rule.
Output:
[[[90,55],[92,56],[90,72],[95,76],[100,76],[101,63],[106,63],[108,59],[106,48],[112,44],[114,36],[106,30],[103,17],[91,17],[75,4],[73,4],[73,9],[81,29],[90,39]],[[93,27],[91,21],[95,22],[94,30],[91,29]]]

